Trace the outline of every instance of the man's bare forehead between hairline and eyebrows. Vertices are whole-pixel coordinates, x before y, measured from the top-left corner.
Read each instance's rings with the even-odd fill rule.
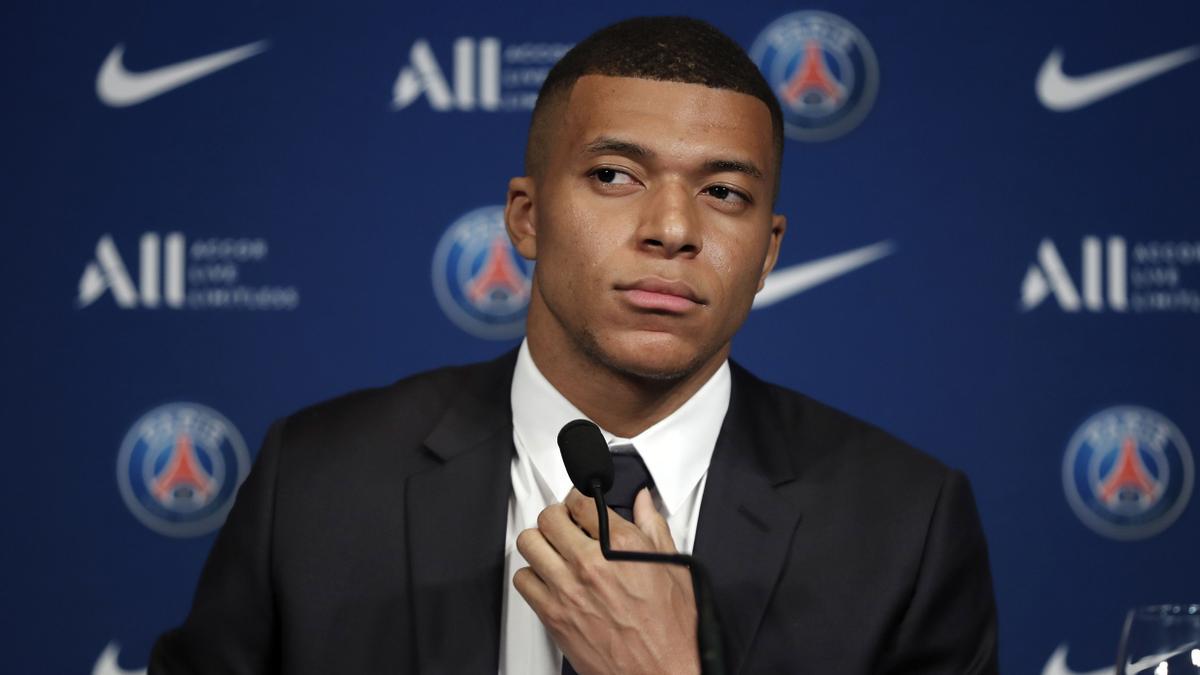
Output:
[[[647,147],[704,145],[768,162],[770,112],[758,98],[703,84],[589,74],[572,86],[559,138],[571,154],[598,138]]]

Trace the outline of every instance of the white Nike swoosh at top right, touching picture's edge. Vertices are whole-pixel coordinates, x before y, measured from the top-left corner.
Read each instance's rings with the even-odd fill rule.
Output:
[[[1062,48],[1056,47],[1038,71],[1036,84],[1038,101],[1060,113],[1078,110],[1198,58],[1200,58],[1200,46],[1192,46],[1091,74],[1072,77],[1062,72]]]

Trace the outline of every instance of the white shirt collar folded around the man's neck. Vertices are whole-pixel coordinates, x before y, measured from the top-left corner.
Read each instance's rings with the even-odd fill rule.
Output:
[[[610,444],[629,442],[646,462],[655,489],[672,515],[708,472],[716,436],[730,407],[730,364],[725,362],[688,401],[632,438],[604,430]],[[558,452],[558,431],[572,419],[586,418],[538,370],[528,341],[521,344],[512,372],[512,428],[517,453],[526,455],[559,501],[571,491],[571,478]]]

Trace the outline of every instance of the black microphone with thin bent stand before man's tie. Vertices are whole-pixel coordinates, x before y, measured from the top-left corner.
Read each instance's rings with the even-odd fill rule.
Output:
[[[604,434],[587,419],[568,422],[558,432],[558,449],[563,453],[563,464],[566,465],[571,483],[596,503],[596,515],[600,519],[600,552],[605,560],[682,565],[691,573],[691,589],[696,597],[700,671],[703,675],[725,675],[721,623],[716,616],[713,586],[704,566],[688,554],[612,550],[608,543],[608,507],[604,496],[612,488],[613,467]]]

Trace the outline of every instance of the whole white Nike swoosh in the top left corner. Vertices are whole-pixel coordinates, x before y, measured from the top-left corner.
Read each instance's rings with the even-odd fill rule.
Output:
[[[178,89],[202,77],[227,68],[266,49],[266,41],[259,40],[224,52],[197,56],[152,71],[130,72],[121,62],[125,44],[113,47],[96,74],[96,95],[114,108],[136,106],[155,96]]]

